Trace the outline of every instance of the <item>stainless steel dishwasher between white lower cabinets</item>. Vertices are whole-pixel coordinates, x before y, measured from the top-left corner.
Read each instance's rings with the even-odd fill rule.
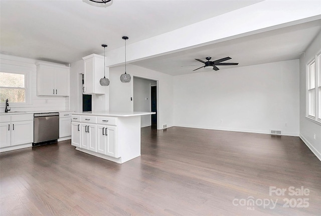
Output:
[[[59,113],[34,114],[33,146],[57,142],[59,138]]]

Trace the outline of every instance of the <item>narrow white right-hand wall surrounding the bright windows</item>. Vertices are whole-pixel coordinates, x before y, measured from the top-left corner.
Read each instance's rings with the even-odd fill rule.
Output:
[[[321,52],[321,33],[313,40],[300,58],[300,138],[321,160],[321,125],[318,125],[306,116],[306,65],[314,56]],[[315,134],[315,140],[314,140]]]

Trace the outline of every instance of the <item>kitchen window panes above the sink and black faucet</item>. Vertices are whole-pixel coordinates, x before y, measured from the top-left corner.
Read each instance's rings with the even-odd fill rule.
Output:
[[[0,102],[26,103],[26,74],[0,72]]]

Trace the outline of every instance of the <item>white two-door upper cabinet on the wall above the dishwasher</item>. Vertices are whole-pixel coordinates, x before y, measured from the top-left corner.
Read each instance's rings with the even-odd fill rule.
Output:
[[[37,95],[69,96],[69,67],[38,62]]]

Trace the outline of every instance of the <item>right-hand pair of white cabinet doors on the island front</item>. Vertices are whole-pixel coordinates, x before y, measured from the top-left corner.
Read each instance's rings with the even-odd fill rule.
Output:
[[[97,125],[97,153],[117,158],[116,127]]]

